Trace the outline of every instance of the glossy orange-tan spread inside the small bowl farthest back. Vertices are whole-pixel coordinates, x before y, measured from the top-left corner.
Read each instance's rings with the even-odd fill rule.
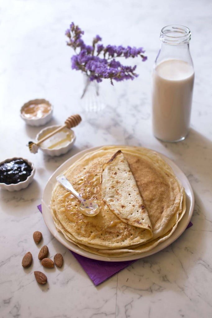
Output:
[[[51,111],[51,105],[48,102],[32,103],[25,105],[21,114],[28,119],[43,118]]]

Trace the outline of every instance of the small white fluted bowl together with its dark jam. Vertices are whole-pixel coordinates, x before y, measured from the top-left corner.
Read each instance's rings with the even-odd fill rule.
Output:
[[[0,188],[8,191],[25,189],[32,182],[34,174],[34,164],[27,159],[6,159],[0,162]]]

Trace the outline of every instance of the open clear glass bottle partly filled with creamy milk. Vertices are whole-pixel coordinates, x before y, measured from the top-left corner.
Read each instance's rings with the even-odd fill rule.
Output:
[[[183,25],[161,30],[153,69],[152,118],[154,136],[162,141],[178,142],[188,134],[194,86],[190,39],[190,30]]]

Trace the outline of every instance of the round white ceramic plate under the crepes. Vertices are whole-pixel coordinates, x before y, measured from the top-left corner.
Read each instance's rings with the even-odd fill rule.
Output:
[[[56,183],[56,176],[61,174],[65,169],[67,169],[72,163],[74,163],[76,160],[81,158],[83,155],[85,155],[93,150],[97,150],[99,148],[101,148],[101,147],[86,149],[84,151],[79,152],[75,156],[72,156],[70,159],[66,160],[53,173],[51,178],[48,180],[48,182],[45,186],[45,189],[44,189],[43,197],[42,197],[42,212],[43,212],[45,224],[48,227],[51,234],[61,244],[63,244],[65,247],[72,250],[73,252],[76,252],[82,256],[85,256],[85,257],[88,257],[91,259],[98,259],[98,260],[104,260],[104,261],[109,261],[109,262],[114,262],[114,261],[121,262],[121,261],[125,261],[125,260],[133,260],[133,259],[143,258],[143,257],[149,256],[149,255],[152,255],[154,253],[157,253],[157,252],[161,251],[162,249],[164,249],[165,247],[167,247],[168,245],[170,245],[171,243],[173,243],[184,232],[184,230],[186,229],[186,227],[187,227],[187,225],[192,217],[193,210],[194,210],[194,193],[193,193],[193,190],[191,188],[191,185],[190,185],[187,177],[184,175],[184,173],[181,171],[181,169],[173,161],[171,161],[170,159],[168,159],[166,156],[164,156],[162,154],[160,154],[161,157],[173,169],[175,175],[181,181],[183,187],[185,188],[185,192],[186,192],[186,212],[185,212],[183,218],[181,219],[181,221],[179,222],[177,229],[174,231],[174,233],[166,241],[157,245],[151,251],[141,253],[140,255],[138,255],[138,254],[137,255],[129,255],[129,256],[122,257],[122,258],[120,258],[120,257],[105,257],[105,256],[99,256],[99,255],[84,251],[83,249],[79,248],[77,245],[74,245],[73,243],[69,242],[67,239],[65,239],[65,237],[62,233],[57,231],[57,229],[54,225],[53,219],[51,217],[51,211],[50,211],[50,205],[49,205],[50,200],[51,200],[51,192],[52,192],[52,190],[55,186],[55,183]]]

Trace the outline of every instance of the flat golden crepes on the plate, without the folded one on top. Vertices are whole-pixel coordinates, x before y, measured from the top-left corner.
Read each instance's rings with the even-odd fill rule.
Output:
[[[140,228],[127,224],[126,220],[123,222],[104,201],[102,167],[119,150],[123,152],[137,183],[140,192],[137,198],[143,200],[146,207],[148,218],[145,219],[145,226],[149,219],[153,233],[145,226]],[[167,239],[185,213],[183,187],[168,164],[149,149],[103,147],[83,156],[64,174],[84,198],[97,202],[100,212],[95,217],[83,215],[77,199],[57,183],[51,199],[55,225],[66,239],[98,255],[121,257],[146,252]]]

